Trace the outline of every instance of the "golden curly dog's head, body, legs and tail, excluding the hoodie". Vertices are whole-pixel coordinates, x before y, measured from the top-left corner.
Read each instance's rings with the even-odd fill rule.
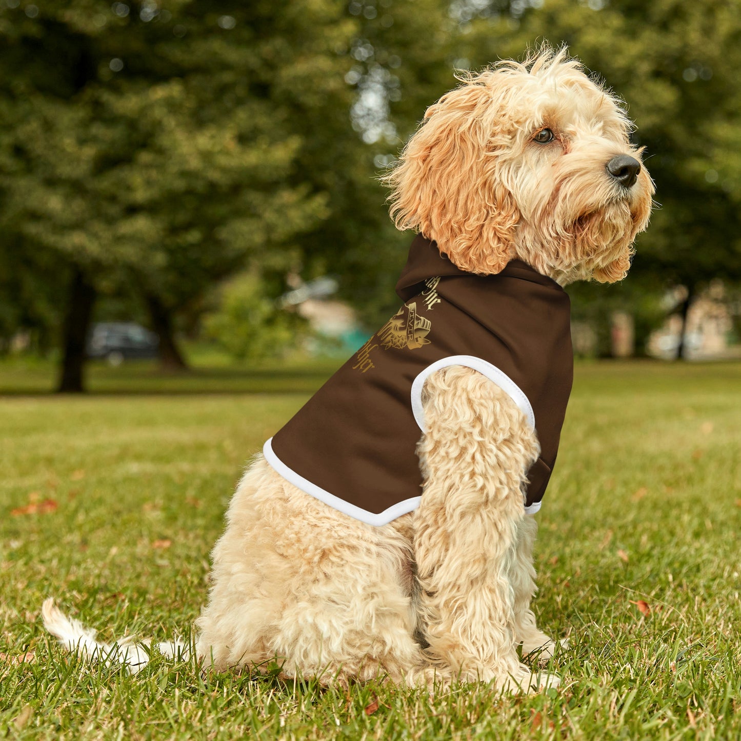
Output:
[[[388,175],[392,216],[470,273],[519,259],[560,285],[618,281],[654,192],[630,130],[622,104],[565,50],[467,73],[428,109]],[[511,395],[472,368],[431,374],[422,401],[421,500],[385,525],[342,514],[256,456],[213,549],[196,644],[206,665],[277,657],[287,677],[341,685],[558,683],[516,651],[554,650],[531,611],[536,523],[522,491],[536,433]],[[478,488],[459,485],[467,467]],[[147,660],[139,646],[96,643],[51,599],[43,614],[69,648],[132,671]]]

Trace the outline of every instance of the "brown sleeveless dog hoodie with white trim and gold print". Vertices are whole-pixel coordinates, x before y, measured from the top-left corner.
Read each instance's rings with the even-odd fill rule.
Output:
[[[519,260],[496,275],[465,273],[421,235],[396,293],[402,308],[265,443],[265,459],[307,494],[385,525],[423,496],[425,379],[465,365],[507,392],[536,429],[541,453],[523,471],[523,499],[525,511],[538,511],[571,393],[568,295]]]

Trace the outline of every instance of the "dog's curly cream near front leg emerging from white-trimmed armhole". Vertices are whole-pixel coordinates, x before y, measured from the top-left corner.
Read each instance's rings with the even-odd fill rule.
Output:
[[[556,677],[531,676],[516,654],[511,567],[535,433],[510,396],[470,368],[430,376],[423,405],[414,548],[428,653],[464,680],[555,685]]]

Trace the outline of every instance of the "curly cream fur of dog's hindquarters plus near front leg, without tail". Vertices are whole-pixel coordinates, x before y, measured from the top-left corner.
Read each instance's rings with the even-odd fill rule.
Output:
[[[515,610],[528,611],[531,584],[515,597],[509,573],[534,433],[469,368],[433,373],[424,404],[422,505],[381,528],[304,494],[258,456],[213,549],[200,657],[219,669],[278,661],[287,677],[340,684],[556,683],[515,651]]]

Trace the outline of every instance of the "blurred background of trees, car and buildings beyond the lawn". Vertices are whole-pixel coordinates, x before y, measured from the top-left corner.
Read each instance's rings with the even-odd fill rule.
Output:
[[[543,39],[660,204],[625,282],[568,288],[577,355],[741,357],[741,1],[0,0],[0,390],[348,356],[411,242],[378,176]]]

